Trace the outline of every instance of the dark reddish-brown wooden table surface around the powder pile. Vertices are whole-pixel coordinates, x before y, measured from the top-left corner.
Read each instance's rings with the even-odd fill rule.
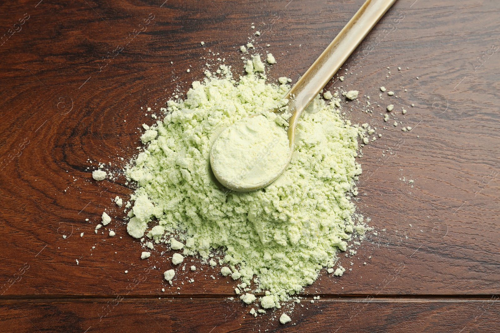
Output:
[[[352,271],[322,274],[305,289],[286,327],[277,319],[293,304],[255,319],[227,299],[235,283],[212,268],[179,274],[169,289],[162,249],[140,260],[111,202],[133,188],[122,176],[97,183],[91,170],[125,165],[140,146],[138,127],[152,123],[145,107],[159,114],[176,88],[182,95],[201,79],[200,57],[242,72],[236,49],[251,23],[262,32],[257,51],[278,61],[269,79],[295,81],[363,1],[38,1],[0,2],[8,36],[0,45],[1,332],[500,332],[497,1],[398,0],[343,66],[345,80],[328,84],[360,91],[359,104],[344,107],[353,122],[387,128],[360,158],[358,211],[376,234],[342,258]],[[102,67],[149,14],[146,31]],[[398,97],[379,100],[381,85]],[[380,111],[362,112],[363,95]],[[384,123],[387,104],[395,110]],[[394,128],[394,118],[413,130]],[[114,238],[93,232],[104,209]]]

